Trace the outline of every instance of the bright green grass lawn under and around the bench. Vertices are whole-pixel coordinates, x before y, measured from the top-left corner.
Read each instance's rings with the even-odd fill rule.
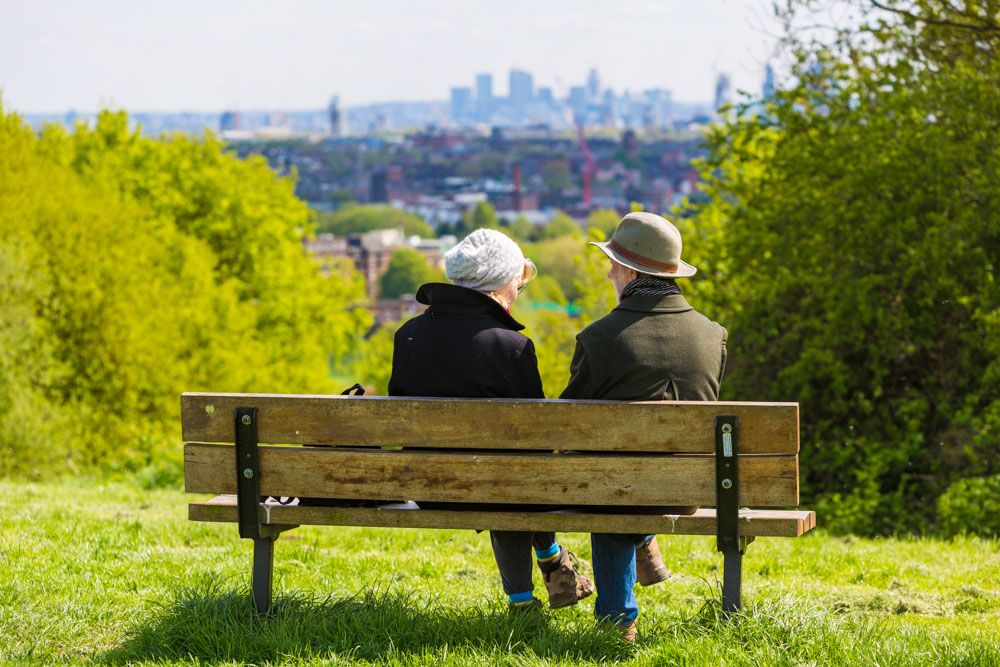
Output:
[[[194,496],[0,482],[0,659],[8,663],[998,665],[1000,545],[761,539],[744,611],[719,613],[714,540],[661,537],[675,581],[640,589],[640,640],[592,599],[512,615],[472,531],[303,527],[276,546],[275,613],[253,614],[250,542],[186,520]],[[822,518],[822,517],[821,517]],[[560,536],[589,561],[586,535]],[[544,597],[544,587],[536,581]]]

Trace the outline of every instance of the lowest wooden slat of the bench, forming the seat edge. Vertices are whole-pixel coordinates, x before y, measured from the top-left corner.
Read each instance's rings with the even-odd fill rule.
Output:
[[[714,535],[715,510],[691,515],[641,516],[555,512],[453,512],[447,510],[261,506],[261,523],[271,525],[381,526]],[[218,496],[188,505],[192,521],[236,521],[236,496]],[[816,527],[816,513],[804,510],[740,510],[740,535],[798,537]]]

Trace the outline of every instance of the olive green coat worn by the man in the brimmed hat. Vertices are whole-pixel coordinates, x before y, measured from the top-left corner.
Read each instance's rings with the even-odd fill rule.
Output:
[[[727,335],[680,294],[630,296],[577,335],[561,398],[718,400]]]

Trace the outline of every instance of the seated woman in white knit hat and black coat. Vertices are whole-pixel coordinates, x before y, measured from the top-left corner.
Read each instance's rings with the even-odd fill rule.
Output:
[[[476,230],[444,255],[453,284],[428,283],[417,291],[427,304],[396,332],[392,396],[542,398],[535,346],[510,315],[518,293],[535,276],[535,265],[514,241]],[[420,503],[430,509],[524,509],[526,505]],[[504,592],[514,608],[539,604],[531,582],[531,550],[545,579],[552,608],[576,604],[593,593],[571,554],[554,533],[491,531]]]

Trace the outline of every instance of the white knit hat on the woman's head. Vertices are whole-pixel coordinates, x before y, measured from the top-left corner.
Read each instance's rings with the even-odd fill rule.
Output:
[[[444,273],[459,287],[498,290],[524,272],[524,253],[498,231],[477,229],[444,254]]]

